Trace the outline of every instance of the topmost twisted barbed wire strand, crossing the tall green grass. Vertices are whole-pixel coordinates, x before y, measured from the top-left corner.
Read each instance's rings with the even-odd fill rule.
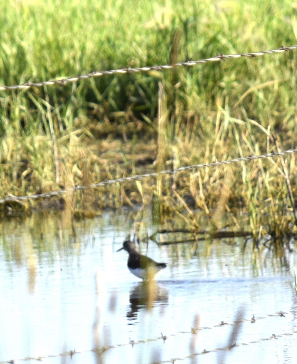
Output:
[[[170,70],[175,67],[189,67],[189,66],[195,66],[199,63],[206,63],[206,62],[217,62],[220,60],[226,60],[230,58],[240,58],[240,57],[248,57],[253,58],[257,56],[262,56],[265,54],[274,54],[274,53],[281,53],[281,52],[288,52],[291,50],[294,50],[297,48],[296,46],[281,46],[278,49],[269,50],[269,51],[260,51],[260,52],[249,52],[249,53],[237,53],[237,54],[221,54],[217,55],[215,57],[211,58],[204,58],[200,60],[189,60],[185,62],[178,62],[174,64],[163,64],[160,66],[145,66],[145,67],[138,67],[138,68],[131,68],[131,67],[124,67],[119,68],[117,70],[109,70],[109,71],[93,71],[87,75],[80,75],[80,76],[72,76],[69,78],[63,78],[63,79],[53,79],[48,81],[42,81],[42,82],[27,82],[21,85],[14,85],[14,86],[0,86],[0,91],[4,90],[26,90],[31,87],[42,87],[42,86],[52,86],[52,85],[62,85],[64,86],[67,83],[70,82],[76,82],[79,80],[85,80],[93,77],[100,77],[103,75],[114,75],[114,74],[126,74],[126,73],[137,73],[137,72],[149,72],[149,71],[158,71],[161,72],[163,70]]]

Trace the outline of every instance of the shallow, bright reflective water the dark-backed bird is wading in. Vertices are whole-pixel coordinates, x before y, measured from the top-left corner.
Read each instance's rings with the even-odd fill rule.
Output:
[[[0,362],[296,362],[296,254],[286,265],[265,254],[252,265],[239,238],[199,242],[196,254],[191,244],[141,244],[168,263],[148,310],[147,287],[127,269],[127,253],[116,253],[133,227],[156,231],[149,213],[138,225],[135,215],[75,222],[76,237],[63,214],[0,223]],[[230,339],[240,309],[248,321]],[[245,345],[220,350],[235,343]]]

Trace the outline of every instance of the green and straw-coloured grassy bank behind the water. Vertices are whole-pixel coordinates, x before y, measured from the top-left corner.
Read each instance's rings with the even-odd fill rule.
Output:
[[[291,1],[3,0],[0,9],[7,86],[277,49],[297,35]],[[294,149],[296,53],[0,91],[0,196]],[[180,215],[187,227],[213,231],[242,230],[244,221],[254,246],[265,236],[283,245],[297,230],[296,177],[296,154],[288,154],[7,202],[0,211],[85,217],[152,204],[165,225]]]

